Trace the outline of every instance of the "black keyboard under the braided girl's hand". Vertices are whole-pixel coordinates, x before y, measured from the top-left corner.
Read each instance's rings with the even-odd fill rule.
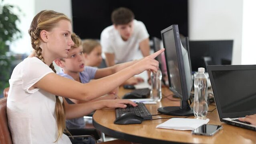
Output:
[[[141,116],[144,120],[151,120],[152,115],[149,113],[149,110],[146,108],[145,104],[142,102],[136,102],[138,106],[133,107],[132,105],[127,104],[126,108],[116,108],[115,117],[118,118],[124,113],[131,112],[137,116]]]

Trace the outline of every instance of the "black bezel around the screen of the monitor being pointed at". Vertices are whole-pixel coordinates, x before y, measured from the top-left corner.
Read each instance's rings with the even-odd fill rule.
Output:
[[[171,87],[171,80],[170,80],[170,72],[169,72],[169,66],[168,66],[168,60],[167,60],[167,49],[165,49],[165,62],[167,67],[167,74],[168,74],[168,81],[169,81],[169,89],[179,98],[181,98],[183,101],[189,100],[188,91],[187,91],[187,83],[186,83],[186,76],[185,76],[185,67],[184,67],[184,61],[183,61],[183,55],[181,50],[181,42],[179,38],[179,28],[177,24],[173,24],[164,30],[161,30],[161,37],[163,40],[163,46],[165,47],[165,40],[163,38],[163,34],[169,30],[173,30],[174,34],[174,40],[175,40],[175,48],[177,52],[177,58],[178,58],[178,66],[179,66],[179,76],[181,81],[181,91],[182,94],[177,92],[174,88]]]

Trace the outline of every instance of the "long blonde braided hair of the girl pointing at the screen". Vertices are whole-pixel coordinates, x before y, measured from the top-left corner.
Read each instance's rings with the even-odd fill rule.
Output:
[[[36,14],[31,22],[28,34],[31,38],[32,48],[35,50],[35,56],[36,58],[42,60],[42,62],[44,62],[44,57],[42,56],[42,48],[40,48],[40,32],[42,30],[51,31],[57,26],[57,23],[60,20],[68,20],[71,22],[71,20],[65,16],[65,14],[55,12],[53,10],[42,10]],[[49,67],[56,73],[52,63]],[[65,122],[65,108],[64,105],[61,104],[58,96],[56,96],[55,114],[56,123],[58,126],[58,137],[55,141],[57,142],[62,136],[64,130],[67,130]]]

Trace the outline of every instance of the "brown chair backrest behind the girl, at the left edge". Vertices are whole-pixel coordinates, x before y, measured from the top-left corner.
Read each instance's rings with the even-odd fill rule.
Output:
[[[6,97],[0,99],[0,144],[12,144],[12,136],[8,128],[6,102]]]

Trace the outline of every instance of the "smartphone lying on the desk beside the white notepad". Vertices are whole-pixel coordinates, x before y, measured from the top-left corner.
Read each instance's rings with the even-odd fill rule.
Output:
[[[222,129],[222,126],[220,125],[214,125],[214,124],[204,124],[200,126],[199,128],[196,128],[192,131],[192,134],[199,134],[199,135],[205,135],[205,136],[213,136],[216,132]]]

